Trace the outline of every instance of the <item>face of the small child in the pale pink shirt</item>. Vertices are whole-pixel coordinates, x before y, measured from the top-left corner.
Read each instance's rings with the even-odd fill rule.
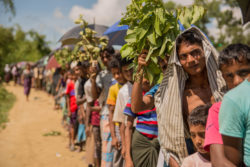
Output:
[[[201,154],[207,153],[207,151],[205,151],[203,148],[205,140],[205,126],[189,125],[189,127],[190,127],[191,139],[193,141],[196,150]]]

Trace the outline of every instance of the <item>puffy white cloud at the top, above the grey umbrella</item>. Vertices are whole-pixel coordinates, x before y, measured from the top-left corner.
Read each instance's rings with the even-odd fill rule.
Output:
[[[82,14],[90,24],[95,20],[96,24],[110,26],[121,19],[129,3],[129,0],[98,0],[91,9],[75,5],[71,8],[69,17],[75,20]]]

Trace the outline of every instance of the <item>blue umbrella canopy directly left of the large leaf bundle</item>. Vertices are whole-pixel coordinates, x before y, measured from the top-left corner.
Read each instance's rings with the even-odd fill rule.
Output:
[[[119,26],[120,21],[109,27],[103,35],[107,35],[109,38],[109,45],[120,45],[123,46],[126,42],[124,40],[128,26]]]

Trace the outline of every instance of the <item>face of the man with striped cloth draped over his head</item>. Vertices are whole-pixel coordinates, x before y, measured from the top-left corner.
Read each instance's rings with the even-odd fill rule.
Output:
[[[206,63],[203,49],[198,44],[182,42],[178,57],[183,69],[189,75],[197,75],[204,71]]]

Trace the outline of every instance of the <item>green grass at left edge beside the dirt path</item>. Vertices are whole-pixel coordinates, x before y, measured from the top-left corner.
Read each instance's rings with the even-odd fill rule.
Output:
[[[4,129],[8,122],[8,112],[16,101],[16,97],[0,85],[0,130]]]

